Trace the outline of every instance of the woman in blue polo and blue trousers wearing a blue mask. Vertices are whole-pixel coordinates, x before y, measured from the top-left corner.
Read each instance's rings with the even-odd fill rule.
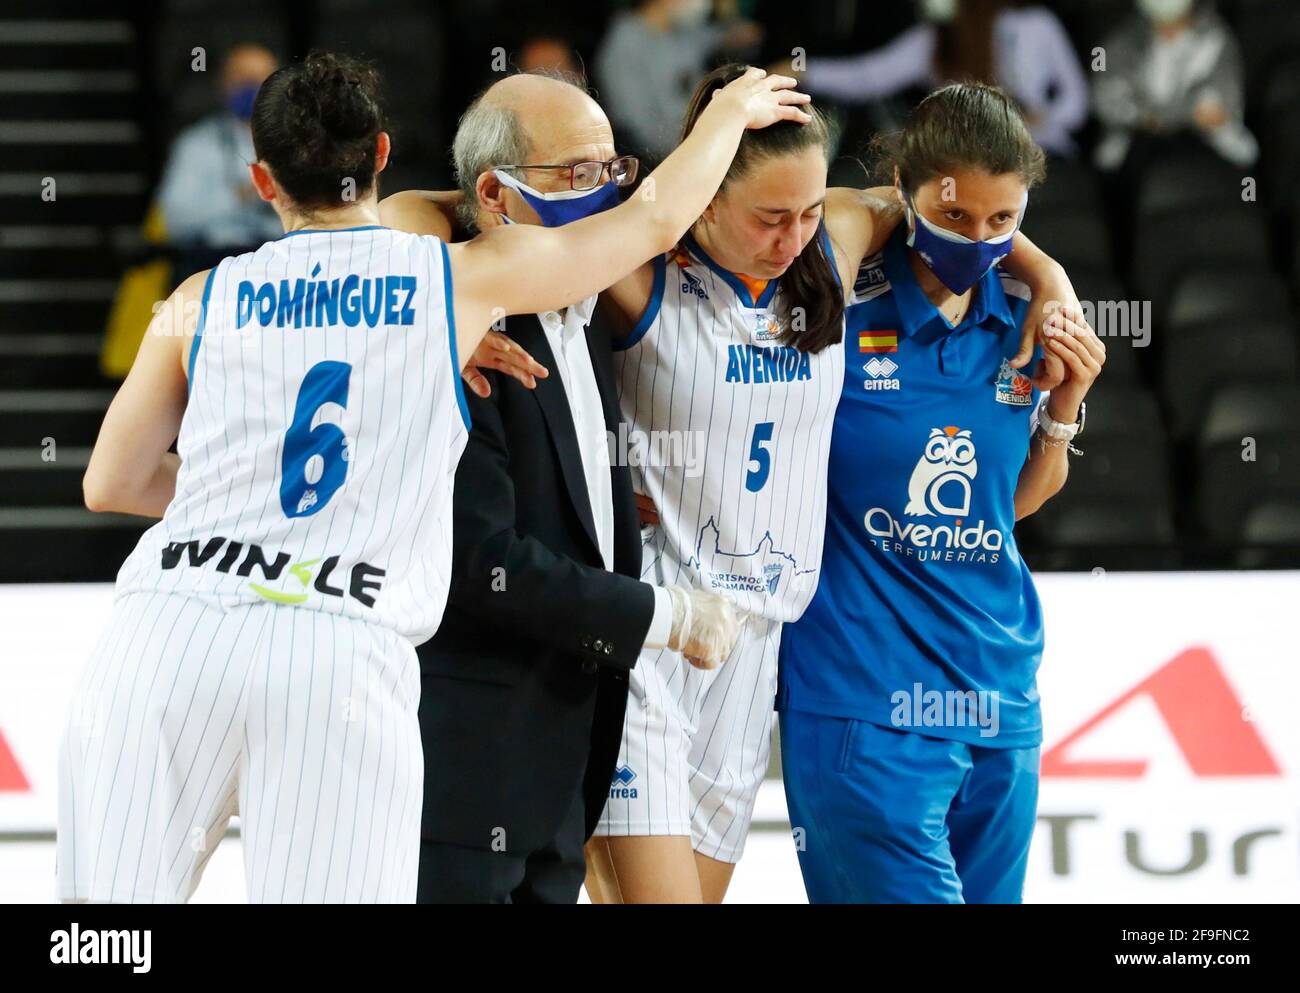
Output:
[[[879,151],[907,224],[858,273],[822,581],[781,638],[790,823],[812,902],[1018,902],[1043,617],[1013,528],[1065,482],[1105,350],[1061,315],[1041,404],[1008,364],[1028,294],[994,265],[1044,165],[1000,90],[936,91]]]

